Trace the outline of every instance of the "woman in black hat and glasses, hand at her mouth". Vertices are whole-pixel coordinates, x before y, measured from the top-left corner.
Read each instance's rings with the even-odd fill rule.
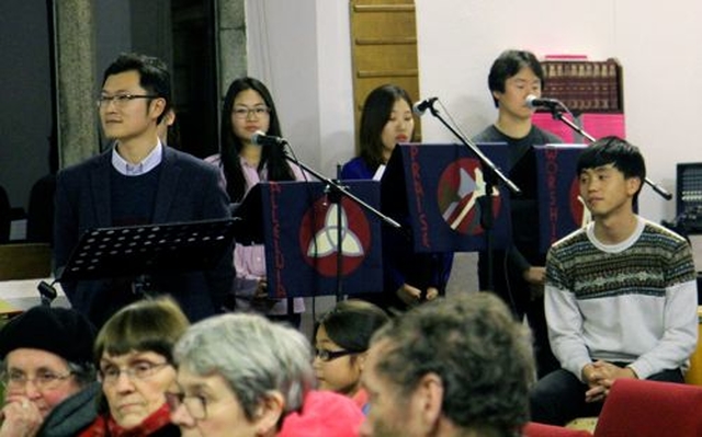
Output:
[[[97,384],[94,338],[94,326],[66,308],[34,307],[0,330],[0,436],[34,436],[56,405]]]

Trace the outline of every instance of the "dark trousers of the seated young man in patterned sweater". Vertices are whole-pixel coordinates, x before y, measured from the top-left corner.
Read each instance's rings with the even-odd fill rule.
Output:
[[[664,370],[647,379],[683,382],[680,369]],[[577,417],[598,416],[604,402],[585,402],[588,386],[575,375],[558,369],[540,379],[530,393],[532,422],[564,426]]]

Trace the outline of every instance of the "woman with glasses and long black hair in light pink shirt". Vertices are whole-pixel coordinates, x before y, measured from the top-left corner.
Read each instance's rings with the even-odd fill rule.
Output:
[[[240,203],[261,181],[302,181],[297,165],[290,164],[282,148],[251,142],[257,131],[282,136],[275,104],[263,83],[253,78],[236,79],[224,100],[219,153],[206,158],[222,171],[229,198]],[[257,311],[270,319],[282,319],[299,326],[305,310],[302,298],[293,299],[292,314],[285,299],[269,299],[265,280],[265,250],[262,244],[237,241],[234,249],[237,277],[234,295],[237,309]]]

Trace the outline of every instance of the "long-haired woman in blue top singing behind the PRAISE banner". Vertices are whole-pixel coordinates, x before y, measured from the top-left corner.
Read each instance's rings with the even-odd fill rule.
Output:
[[[412,101],[404,89],[385,84],[371,91],[363,104],[359,141],[361,154],[341,169],[342,180],[378,179],[378,168],[387,161],[398,142],[415,140]],[[381,199],[382,203],[382,199]],[[403,228],[409,229],[408,218]],[[383,231],[383,292],[364,294],[385,310],[403,311],[445,291],[453,254],[415,253],[407,233]]]

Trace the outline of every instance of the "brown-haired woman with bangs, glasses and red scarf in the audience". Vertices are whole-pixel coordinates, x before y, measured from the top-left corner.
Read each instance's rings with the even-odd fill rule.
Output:
[[[171,349],[189,325],[168,297],[132,303],[98,333],[99,414],[78,436],[180,436],[166,391],[176,381]]]

